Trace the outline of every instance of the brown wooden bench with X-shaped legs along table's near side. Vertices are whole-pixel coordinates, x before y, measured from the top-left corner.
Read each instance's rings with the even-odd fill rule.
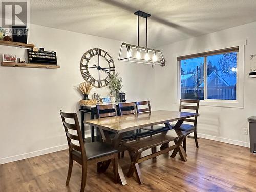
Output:
[[[138,183],[142,184],[143,178],[140,172],[139,163],[151,158],[153,158],[153,160],[156,160],[156,157],[158,155],[167,153],[171,150],[174,150],[171,157],[175,157],[177,152],[179,152],[181,160],[187,161],[186,152],[181,146],[185,136],[185,132],[183,131],[169,130],[167,132],[162,132],[160,134],[156,134],[138,141],[123,143],[122,145],[127,147],[127,150],[131,158],[131,165],[127,172],[127,177],[132,177],[133,173],[135,172]],[[168,146],[170,141],[174,141],[174,145]],[[166,148],[157,151],[157,146],[163,144],[166,145]],[[152,153],[150,155],[141,157],[141,153],[150,148],[152,149]]]

